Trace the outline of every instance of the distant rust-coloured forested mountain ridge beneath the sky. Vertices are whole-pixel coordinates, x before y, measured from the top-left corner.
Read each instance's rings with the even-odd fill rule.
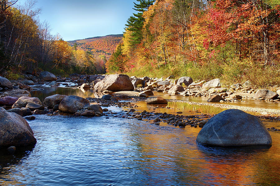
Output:
[[[97,36],[86,39],[77,39],[68,41],[70,46],[77,43],[78,49],[91,52],[95,57],[104,55],[107,59],[116,49],[117,45],[122,42],[123,34],[111,34],[106,36]]]

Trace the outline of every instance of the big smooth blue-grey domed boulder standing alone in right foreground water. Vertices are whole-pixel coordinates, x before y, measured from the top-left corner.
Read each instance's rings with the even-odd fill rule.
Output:
[[[214,146],[270,146],[272,139],[259,118],[229,109],[209,119],[196,142]]]

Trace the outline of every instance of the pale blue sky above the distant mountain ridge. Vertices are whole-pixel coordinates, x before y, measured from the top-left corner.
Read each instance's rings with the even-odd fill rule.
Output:
[[[38,0],[36,6],[42,8],[40,20],[50,23],[52,34],[69,41],[122,34],[133,5],[133,0]]]

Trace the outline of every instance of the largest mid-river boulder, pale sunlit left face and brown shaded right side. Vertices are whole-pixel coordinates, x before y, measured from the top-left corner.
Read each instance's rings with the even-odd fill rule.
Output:
[[[134,90],[134,86],[131,83],[128,75],[111,74],[107,75],[104,79],[94,85],[94,91],[104,90],[110,90],[113,92],[131,91]]]

